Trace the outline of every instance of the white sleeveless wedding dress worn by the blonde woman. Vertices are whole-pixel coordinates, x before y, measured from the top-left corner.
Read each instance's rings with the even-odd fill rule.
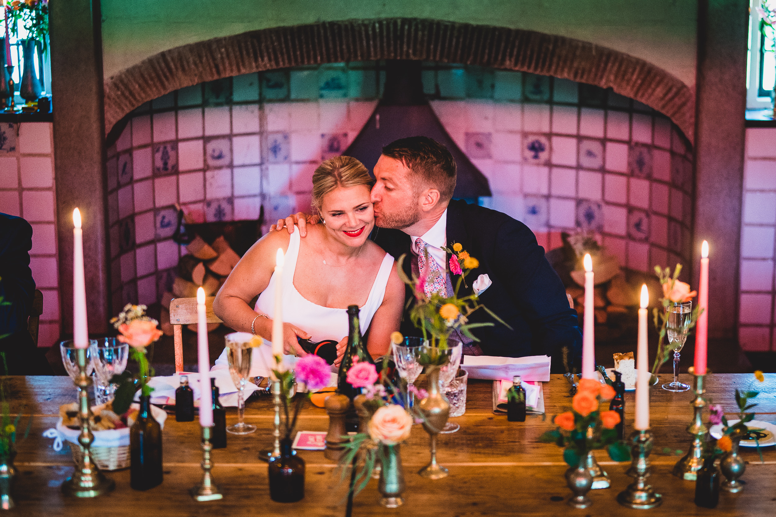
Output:
[[[299,291],[296,291],[296,287],[294,287],[293,276],[294,271],[296,271],[296,259],[299,257],[300,240],[299,229],[294,226],[294,232],[289,240],[289,247],[286,251],[284,260],[285,271],[283,272],[282,286],[283,322],[291,323],[292,325],[303,329],[312,336],[310,340],[313,342],[322,341],[324,339],[339,341],[348,335],[347,309],[315,305],[313,302],[310,302],[307,298],[300,295]],[[369,328],[369,323],[372,322],[372,316],[375,315],[377,308],[383,303],[386,284],[388,284],[388,277],[390,276],[392,267],[393,257],[386,253],[386,256],[383,257],[383,263],[380,264],[375,281],[372,284],[372,289],[369,291],[369,298],[367,298],[366,303],[359,308],[359,322],[361,324],[362,334]],[[353,281],[359,281],[359,279],[353,278]],[[258,296],[255,307],[256,312],[268,315],[270,318],[275,314],[276,284],[277,275],[272,273],[269,284],[262,294]],[[262,339],[262,341],[264,343],[262,346],[258,347],[258,350],[254,351],[251,360],[251,377],[257,375],[261,375],[262,377],[269,376],[269,366],[272,364],[272,343],[266,339]],[[296,357],[285,356],[284,362],[291,367],[296,363]],[[220,357],[216,360],[216,365],[212,368],[212,371],[228,367],[227,351],[223,350]]]

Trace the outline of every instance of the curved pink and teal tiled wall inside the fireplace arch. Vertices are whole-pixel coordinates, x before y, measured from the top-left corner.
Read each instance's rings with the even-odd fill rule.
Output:
[[[180,253],[175,202],[201,222],[266,222],[310,207],[321,160],[343,152],[374,109],[379,64],[248,74],[140,106],[109,149],[113,312],[168,289]],[[691,153],[646,105],[572,81],[424,64],[424,90],[490,181],[480,203],[530,226],[547,249],[591,229],[621,264],[688,263]]]

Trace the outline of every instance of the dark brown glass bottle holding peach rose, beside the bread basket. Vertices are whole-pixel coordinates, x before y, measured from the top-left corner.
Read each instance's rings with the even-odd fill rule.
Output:
[[[130,487],[147,490],[161,484],[161,426],[151,415],[151,397],[140,397],[140,412],[130,428]]]

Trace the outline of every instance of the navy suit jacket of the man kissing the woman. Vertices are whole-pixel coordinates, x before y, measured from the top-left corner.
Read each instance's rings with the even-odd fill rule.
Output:
[[[473,312],[469,322],[494,322],[494,326],[472,331],[480,339],[483,353],[502,357],[546,354],[553,357],[553,372],[565,372],[574,365],[579,371],[582,334],[577,312],[569,307],[563,282],[528,226],[504,213],[452,200],[446,233],[449,248],[460,243],[480,261],[480,266],[466,275],[468,287],[462,284],[459,296],[469,295],[473,281],[487,274],[493,284],[480,295],[480,302],[511,326],[502,325],[482,309]],[[379,228],[372,237],[393,257],[407,253],[412,258],[410,236],[401,230]],[[407,276],[411,276],[410,268],[411,260],[405,259]],[[451,273],[453,286],[457,280],[458,275]],[[414,300],[409,287],[406,297]],[[408,312],[409,308],[404,312],[401,332],[419,336]]]

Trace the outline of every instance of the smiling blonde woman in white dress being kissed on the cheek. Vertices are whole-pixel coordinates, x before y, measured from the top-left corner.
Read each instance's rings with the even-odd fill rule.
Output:
[[[289,364],[307,353],[299,336],[317,342],[338,341],[338,361],[348,342],[348,305],[359,305],[367,350],[379,357],[390,349],[390,334],[399,328],[404,284],[393,257],[368,239],[375,225],[369,192],[372,178],[352,157],[326,160],[313,174],[313,207],[324,224],[311,226],[307,237],[271,232],[245,253],[213,302],[213,312],[232,329],[254,333],[265,343],[272,336],[277,275],[275,254],[285,253],[282,280],[283,352]],[[248,305],[261,293],[254,308]],[[368,333],[368,335],[367,335]],[[269,346],[253,355],[251,376],[268,375]],[[214,369],[228,367],[226,350]]]

